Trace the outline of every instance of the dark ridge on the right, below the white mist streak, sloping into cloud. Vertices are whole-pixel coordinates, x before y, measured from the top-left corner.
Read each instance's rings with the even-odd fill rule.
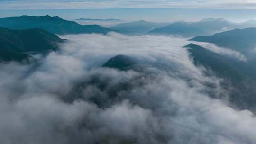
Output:
[[[255,67],[255,63],[235,61],[233,58],[211,52],[195,44],[185,47],[188,48],[195,65],[203,65],[210,70],[207,74],[212,75],[209,72],[214,72],[224,80],[221,85],[229,90],[229,100],[232,104],[242,109],[256,108],[254,105],[256,103],[256,75],[251,69]]]

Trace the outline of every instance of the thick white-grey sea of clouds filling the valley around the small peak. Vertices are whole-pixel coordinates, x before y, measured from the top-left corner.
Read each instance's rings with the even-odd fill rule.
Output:
[[[222,80],[192,63],[186,40],[63,38],[69,42],[37,64],[0,64],[1,144],[256,143],[255,116],[228,106]],[[154,65],[101,67],[117,54]]]

